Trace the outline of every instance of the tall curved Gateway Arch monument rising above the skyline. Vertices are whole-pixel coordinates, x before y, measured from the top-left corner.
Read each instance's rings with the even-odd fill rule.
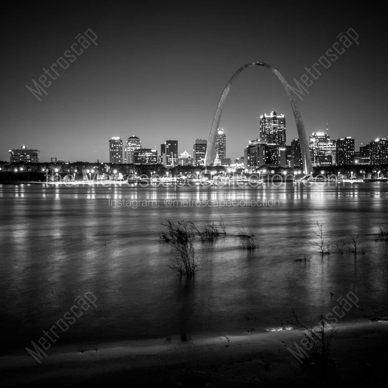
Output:
[[[302,156],[302,162],[303,162],[303,169],[305,170],[306,174],[310,174],[311,171],[313,171],[312,163],[311,163],[311,156],[310,156],[310,149],[308,148],[308,141],[305,131],[305,126],[302,121],[302,117],[300,114],[300,110],[298,107],[298,104],[296,103],[295,96],[293,92],[291,91],[291,88],[289,87],[287,81],[284,79],[282,74],[279,73],[275,68],[273,68],[271,65],[268,65],[263,62],[252,62],[248,63],[241,68],[239,68],[236,73],[232,75],[230,80],[225,86],[225,89],[222,92],[220,101],[218,102],[217,110],[213,118],[213,123],[211,125],[208,145],[206,147],[206,154],[205,154],[205,166],[210,166],[211,163],[213,163],[214,157],[215,157],[215,143],[216,143],[216,137],[217,137],[217,131],[218,126],[220,125],[221,120],[221,113],[223,109],[223,104],[225,103],[226,97],[229,93],[230,87],[232,86],[232,82],[237,78],[237,76],[246,68],[249,68],[251,66],[263,66],[267,69],[270,69],[272,73],[275,73],[277,78],[281,81],[284,89],[286,90],[286,93],[288,95],[288,99],[291,103],[291,108],[294,113],[295,123],[296,123],[296,129],[298,130],[298,136],[299,136],[299,143],[300,143],[300,151]]]

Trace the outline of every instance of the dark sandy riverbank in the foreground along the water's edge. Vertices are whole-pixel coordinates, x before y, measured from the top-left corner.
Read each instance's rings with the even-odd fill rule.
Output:
[[[241,336],[192,336],[105,343],[100,348],[47,351],[38,363],[27,352],[0,357],[2,386],[250,387],[385,385],[388,322],[340,325],[326,371],[300,363],[298,330]],[[305,357],[307,360],[307,357]],[[310,359],[311,360],[311,359]]]

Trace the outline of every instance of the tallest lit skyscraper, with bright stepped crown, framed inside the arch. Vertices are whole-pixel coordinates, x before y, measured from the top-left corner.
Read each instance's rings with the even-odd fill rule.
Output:
[[[286,145],[286,118],[275,111],[260,116],[260,141],[267,144]]]

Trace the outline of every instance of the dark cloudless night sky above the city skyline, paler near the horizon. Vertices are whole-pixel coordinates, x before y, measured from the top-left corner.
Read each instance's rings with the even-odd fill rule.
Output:
[[[353,42],[328,69],[320,66],[310,94],[297,98],[307,135],[328,123],[332,139],[350,135],[357,150],[388,137],[385,12],[314,9],[312,3],[294,11],[281,3],[241,3],[239,9],[191,4],[12,5],[2,26],[0,160],[9,161],[8,149],[25,144],[41,151],[41,161],[106,162],[108,140],[132,135],[158,153],[172,139],[179,152],[192,154],[195,139],[208,139],[222,90],[239,67],[266,62],[294,84],[350,27],[359,45]],[[66,70],[57,68],[60,76],[39,102],[26,85],[33,87],[31,79],[38,81],[42,68],[87,29],[97,45]],[[290,144],[297,131],[281,83],[268,69],[244,71],[220,123],[227,157],[242,156],[259,136],[260,114],[274,110],[286,114]]]

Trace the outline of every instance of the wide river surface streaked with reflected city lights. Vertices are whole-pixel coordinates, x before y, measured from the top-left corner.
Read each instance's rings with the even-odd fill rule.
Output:
[[[388,219],[388,185],[3,185],[0,198],[0,312],[3,327],[18,333],[12,346],[37,340],[86,291],[95,294],[98,308],[71,327],[64,343],[264,330],[285,323],[291,308],[315,323],[349,291],[360,308],[344,320],[387,312],[387,247],[373,236]],[[166,207],[165,198],[278,200],[280,206]],[[111,199],[156,202],[112,207]],[[157,241],[160,223],[170,217],[197,226],[225,222],[227,236],[212,245],[195,242],[203,270],[194,280],[175,277],[167,267],[171,249]],[[365,255],[322,259],[309,243],[316,221],[332,240],[358,234]],[[258,249],[239,249],[233,236],[239,228],[255,234]],[[310,262],[294,261],[303,255],[311,255]]]

